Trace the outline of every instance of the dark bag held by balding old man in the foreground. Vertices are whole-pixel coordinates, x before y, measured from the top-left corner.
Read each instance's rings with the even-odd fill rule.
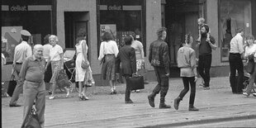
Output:
[[[39,121],[39,118],[36,114],[35,108],[32,108],[31,114],[27,116],[25,124],[22,127],[24,127],[24,128],[30,128],[30,127],[31,128],[32,127],[41,128],[40,121]]]

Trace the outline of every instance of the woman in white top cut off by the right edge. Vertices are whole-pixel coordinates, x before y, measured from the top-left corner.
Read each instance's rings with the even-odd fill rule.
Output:
[[[244,96],[249,97],[252,89],[254,88],[254,79],[256,77],[256,68],[255,68],[255,57],[256,57],[256,44],[254,44],[254,36],[247,36],[246,43],[248,44],[245,47],[244,58],[248,59],[248,64],[246,71],[250,73],[249,84],[247,86],[246,92],[243,92]],[[256,97],[256,94],[253,94]]]

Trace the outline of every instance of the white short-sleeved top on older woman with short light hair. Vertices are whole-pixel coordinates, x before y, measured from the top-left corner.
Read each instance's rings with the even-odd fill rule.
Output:
[[[62,54],[63,50],[60,45],[55,45],[50,49],[50,60],[51,61],[58,61],[60,60],[60,55]]]

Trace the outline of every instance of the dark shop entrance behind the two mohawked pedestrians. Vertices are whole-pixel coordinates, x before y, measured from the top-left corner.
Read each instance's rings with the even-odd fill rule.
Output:
[[[195,50],[195,40],[198,38],[197,18],[204,16],[203,10],[204,2],[199,2],[199,0],[166,1],[165,26],[168,28],[167,42],[171,67],[177,67],[177,52],[188,33],[193,37],[192,48]]]

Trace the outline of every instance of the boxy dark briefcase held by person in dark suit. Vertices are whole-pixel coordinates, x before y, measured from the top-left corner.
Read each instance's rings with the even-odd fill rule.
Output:
[[[126,78],[126,86],[130,88],[130,90],[138,90],[144,89],[144,78],[143,76],[133,76],[130,78]]]

